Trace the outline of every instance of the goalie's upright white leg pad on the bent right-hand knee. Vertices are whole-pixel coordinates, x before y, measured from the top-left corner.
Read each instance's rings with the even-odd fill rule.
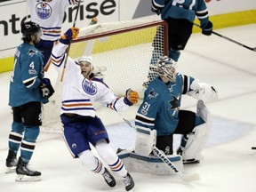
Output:
[[[198,100],[196,110],[196,116],[201,116],[204,119],[205,123],[197,125],[193,129],[193,132],[187,135],[188,139],[186,138],[186,136],[183,136],[183,138],[181,139],[181,142],[187,140],[185,147],[181,147],[183,159],[203,159],[202,150],[211,132],[211,114],[205,107],[202,100]]]

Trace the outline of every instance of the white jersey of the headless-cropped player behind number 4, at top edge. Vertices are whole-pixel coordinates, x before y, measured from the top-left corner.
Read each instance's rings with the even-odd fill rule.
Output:
[[[78,4],[78,0],[28,0],[31,20],[42,28],[41,39],[55,41],[61,35],[61,26],[66,8]]]

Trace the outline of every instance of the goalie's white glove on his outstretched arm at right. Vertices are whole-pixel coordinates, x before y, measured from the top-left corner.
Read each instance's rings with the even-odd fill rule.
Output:
[[[218,98],[218,92],[210,84],[200,83],[199,80],[194,80],[190,84],[191,91],[188,95],[197,100],[215,100]]]

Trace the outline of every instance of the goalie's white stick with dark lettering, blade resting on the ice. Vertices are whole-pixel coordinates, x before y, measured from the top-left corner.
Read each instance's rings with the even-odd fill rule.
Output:
[[[117,112],[117,114],[123,118],[126,124],[128,124],[130,127],[132,127],[134,130],[137,131],[137,128],[128,119],[124,118],[124,116],[122,116],[122,114],[120,114],[119,112]],[[175,174],[177,174],[182,180],[187,182],[200,180],[200,176],[197,173],[188,175],[188,174],[183,174],[183,172],[180,172],[180,170],[174,164],[172,164],[172,162],[168,159],[168,157],[165,156],[165,154],[162,151],[156,148],[156,146],[153,147],[153,153],[154,155],[161,158],[164,164],[168,165],[169,168],[172,169],[172,171],[175,172]]]

